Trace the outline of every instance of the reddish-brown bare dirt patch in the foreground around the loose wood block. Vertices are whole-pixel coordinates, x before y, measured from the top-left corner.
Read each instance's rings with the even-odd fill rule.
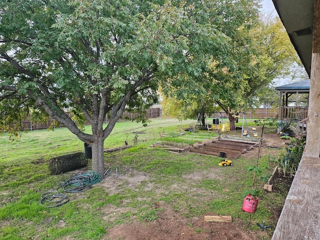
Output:
[[[158,219],[143,223],[134,220],[131,224],[118,224],[107,229],[109,239],[125,240],[248,240],[255,239],[256,232],[243,230],[243,222],[205,222],[200,218],[186,218],[173,211],[163,201],[158,202]],[[207,213],[206,215],[212,215]],[[266,236],[266,232],[259,233]]]

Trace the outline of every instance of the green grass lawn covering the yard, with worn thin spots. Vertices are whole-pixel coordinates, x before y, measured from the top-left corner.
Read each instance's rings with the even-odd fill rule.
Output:
[[[252,181],[252,173],[246,172],[252,164],[249,160],[240,157],[234,160],[232,167],[220,167],[219,157],[189,152],[172,154],[163,149],[148,148],[156,141],[190,144],[217,135],[204,130],[175,136],[174,133],[184,132],[194,123],[194,120],[160,118],[152,119],[147,127],[130,121],[116,123],[104,147],[121,146],[124,141],[135,143],[128,149],[105,153],[106,166],[116,166],[123,176],[119,177],[121,180],[106,177],[89,190],[66,193],[69,202],[50,208],[38,204],[40,195],[56,189],[61,180],[76,171],[50,175],[47,160],[83,151],[83,142],[66,128],[30,131],[13,142],[3,134],[0,136],[0,239],[62,239],[67,236],[101,239],[107,229],[130,222],[132,216],[139,221],[156,219],[161,210],[153,207],[157,201],[165,201],[189,218],[215,212],[247,223],[249,214],[241,210],[241,195]],[[85,131],[90,132],[90,127]],[[259,162],[266,172],[273,170],[274,163],[269,162],[267,155]],[[90,162],[83,170],[87,169],[90,169]],[[130,179],[139,174],[145,175],[145,179],[135,181],[132,186]],[[193,175],[201,177],[192,178]],[[111,179],[114,181],[112,190],[105,187]],[[262,187],[263,183],[259,185]],[[262,220],[275,226],[270,206],[280,207],[284,199],[283,195],[263,192],[258,210],[251,216],[250,228],[259,231],[254,223]],[[110,206],[122,209],[112,221],[103,213],[103,209]]]

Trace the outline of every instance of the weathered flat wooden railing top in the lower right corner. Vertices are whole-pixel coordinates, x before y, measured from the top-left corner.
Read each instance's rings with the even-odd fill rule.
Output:
[[[320,239],[320,158],[300,161],[271,240]]]

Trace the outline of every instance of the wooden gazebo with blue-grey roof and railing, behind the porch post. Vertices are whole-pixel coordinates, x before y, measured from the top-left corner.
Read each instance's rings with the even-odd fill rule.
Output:
[[[309,98],[310,79],[277,86],[279,92],[279,120],[291,119],[300,121],[307,118],[308,102],[300,103],[299,94],[307,94]]]

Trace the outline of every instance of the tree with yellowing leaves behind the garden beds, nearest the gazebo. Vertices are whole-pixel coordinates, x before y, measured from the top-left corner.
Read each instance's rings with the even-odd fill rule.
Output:
[[[249,15],[240,25],[225,30],[230,36],[222,61],[212,56],[209,71],[201,75],[199,98],[220,106],[228,115],[230,129],[235,129],[236,112],[258,104],[259,96],[277,78],[289,74],[297,55],[278,18]],[[174,85],[167,92],[179,93]],[[187,96],[179,93],[180,99]]]

